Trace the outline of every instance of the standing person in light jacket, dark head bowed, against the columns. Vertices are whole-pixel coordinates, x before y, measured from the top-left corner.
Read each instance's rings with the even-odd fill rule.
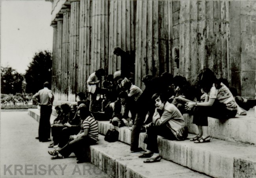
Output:
[[[88,92],[90,93],[90,106],[89,106],[90,112],[95,112],[95,101],[96,101],[97,94],[99,92],[98,84],[101,81],[101,77],[104,75],[105,75],[105,70],[100,68],[95,72],[93,72],[87,80]]]

